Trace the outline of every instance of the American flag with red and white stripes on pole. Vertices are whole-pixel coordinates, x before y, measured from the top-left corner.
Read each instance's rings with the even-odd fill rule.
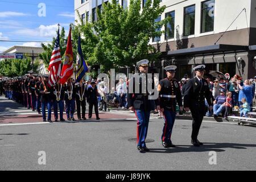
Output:
[[[60,28],[57,32],[57,38],[52,51],[51,61],[49,63],[49,85],[53,86],[59,80],[61,72],[61,55],[60,55]]]

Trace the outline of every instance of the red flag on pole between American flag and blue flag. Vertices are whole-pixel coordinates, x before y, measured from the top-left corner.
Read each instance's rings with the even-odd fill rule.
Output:
[[[73,49],[71,42],[71,27],[69,28],[68,44],[65,52],[64,64],[61,70],[60,84],[65,84],[68,78],[73,75]]]

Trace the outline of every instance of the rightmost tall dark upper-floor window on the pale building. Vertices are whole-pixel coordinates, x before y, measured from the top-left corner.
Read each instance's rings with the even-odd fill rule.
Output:
[[[214,7],[215,0],[201,3],[201,33],[214,30]]]

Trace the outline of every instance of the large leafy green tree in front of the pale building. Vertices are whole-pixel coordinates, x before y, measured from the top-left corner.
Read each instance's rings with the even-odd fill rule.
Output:
[[[154,61],[160,52],[148,43],[150,38],[164,33],[156,28],[164,26],[170,18],[160,22],[155,19],[165,9],[159,0],[147,1],[143,9],[140,0],[131,0],[129,9],[123,9],[114,0],[104,3],[102,10],[97,10],[97,21],[76,22],[73,40],[77,42],[80,31],[85,60],[89,65],[100,65],[101,72],[133,66],[141,59]]]

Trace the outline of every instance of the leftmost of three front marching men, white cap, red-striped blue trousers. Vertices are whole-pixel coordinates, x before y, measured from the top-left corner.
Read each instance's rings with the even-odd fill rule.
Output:
[[[149,151],[149,149],[146,147],[145,140],[147,137],[150,111],[155,109],[155,105],[157,110],[160,109],[158,104],[158,99],[156,100],[148,99],[148,96],[150,96],[150,93],[148,93],[148,90],[146,90],[146,93],[142,93],[143,86],[146,86],[147,88],[147,84],[148,84],[147,83],[148,62],[149,62],[148,60],[144,59],[137,63],[137,66],[139,67],[139,74],[137,76],[140,76],[141,74],[144,73],[144,75],[146,76],[146,81],[143,82],[142,78],[141,77],[139,78],[139,93],[135,93],[135,78],[133,77],[133,82],[131,82],[133,84],[133,92],[129,93],[127,97],[129,109],[135,112],[135,115],[138,119],[137,148],[139,151]],[[154,83],[154,80],[152,80],[152,82]],[[131,85],[129,84],[129,86]]]

